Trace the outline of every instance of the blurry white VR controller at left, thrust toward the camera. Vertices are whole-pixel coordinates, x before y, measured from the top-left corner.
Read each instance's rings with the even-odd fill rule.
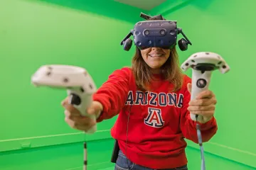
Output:
[[[81,115],[96,119],[88,115],[86,109],[92,103],[92,94],[96,86],[87,70],[70,65],[43,65],[31,78],[35,86],[48,86],[51,88],[66,89],[68,102],[80,111]],[[94,125],[86,133],[94,133],[97,126]]]

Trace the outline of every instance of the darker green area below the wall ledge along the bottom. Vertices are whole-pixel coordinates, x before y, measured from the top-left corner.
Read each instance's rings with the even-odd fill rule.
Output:
[[[88,170],[114,169],[110,163],[113,140],[88,142]],[[201,169],[201,157],[198,149],[188,147],[189,170]],[[207,170],[230,169],[252,170],[255,168],[238,164],[206,153]],[[82,143],[42,147],[0,154],[1,170],[82,170]]]

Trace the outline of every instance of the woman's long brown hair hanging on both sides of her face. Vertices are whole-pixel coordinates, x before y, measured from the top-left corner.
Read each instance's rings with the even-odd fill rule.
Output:
[[[142,54],[138,47],[136,47],[136,52],[132,58],[132,71],[134,73],[135,81],[137,87],[142,91],[149,90],[147,85],[150,84],[152,80],[152,73],[150,72],[150,67],[144,62]],[[176,48],[172,48],[168,60],[161,67],[161,75],[166,81],[169,81],[174,85],[174,89],[171,91],[178,91],[181,89],[183,83],[183,74],[179,67],[178,53]]]

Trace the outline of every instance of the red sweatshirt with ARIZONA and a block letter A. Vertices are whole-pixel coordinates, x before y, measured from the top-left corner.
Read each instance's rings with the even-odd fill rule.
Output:
[[[119,114],[111,135],[134,164],[170,169],[187,164],[184,137],[198,143],[196,122],[187,110],[191,96],[186,85],[191,79],[184,75],[183,87],[173,93],[169,92],[172,84],[156,78],[151,86],[157,90],[142,92],[137,89],[131,69],[118,69],[93,98],[103,106],[97,122]],[[203,142],[210,140],[216,130],[215,118],[201,124]]]

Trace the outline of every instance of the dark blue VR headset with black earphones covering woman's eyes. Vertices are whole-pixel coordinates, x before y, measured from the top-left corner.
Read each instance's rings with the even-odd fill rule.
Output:
[[[182,34],[184,38],[178,40],[178,47],[181,51],[186,51],[188,45],[192,45],[181,28],[177,28],[177,21],[169,21],[161,15],[148,16],[144,13],[140,17],[146,21],[139,21],[135,24],[134,29],[122,40],[121,45],[124,50],[129,51],[132,47],[130,36],[134,36],[134,45],[140,50],[149,47],[161,47],[171,49],[176,45],[177,35]]]

